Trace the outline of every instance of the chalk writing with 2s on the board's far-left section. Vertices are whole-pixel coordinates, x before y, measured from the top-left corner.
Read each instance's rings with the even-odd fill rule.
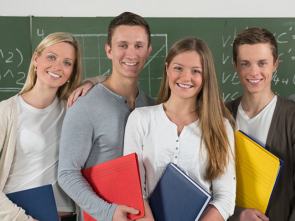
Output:
[[[12,51],[7,53],[3,53],[0,49],[0,64],[2,67],[3,72],[0,73],[0,82],[5,81],[5,79],[12,79],[12,86],[14,83],[16,85],[24,85],[23,80],[26,78],[26,74],[23,71],[15,71],[15,67],[19,67],[23,63],[24,57],[22,52],[15,48]],[[0,87],[0,92],[19,92],[22,89],[20,87]]]

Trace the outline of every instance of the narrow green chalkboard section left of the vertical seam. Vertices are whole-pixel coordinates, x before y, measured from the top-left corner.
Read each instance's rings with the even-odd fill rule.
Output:
[[[30,61],[30,18],[0,17],[0,101],[18,93]]]

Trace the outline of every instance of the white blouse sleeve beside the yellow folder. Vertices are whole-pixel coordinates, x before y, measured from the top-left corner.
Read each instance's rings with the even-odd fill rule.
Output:
[[[236,201],[236,166],[235,166],[235,137],[232,127],[228,120],[225,122],[228,139],[230,142],[231,153],[230,161],[221,175],[212,180],[213,200],[210,204],[214,205],[224,220],[227,220],[234,213]],[[233,153],[233,154],[232,154]]]

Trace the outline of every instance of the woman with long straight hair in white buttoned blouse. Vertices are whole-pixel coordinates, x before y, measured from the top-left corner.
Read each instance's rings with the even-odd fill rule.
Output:
[[[184,38],[172,46],[157,104],[135,109],[125,129],[124,155],[139,156],[144,198],[172,162],[212,194],[201,220],[227,220],[236,198],[235,121],[222,101],[212,55],[202,39]],[[142,220],[153,221],[144,202]]]

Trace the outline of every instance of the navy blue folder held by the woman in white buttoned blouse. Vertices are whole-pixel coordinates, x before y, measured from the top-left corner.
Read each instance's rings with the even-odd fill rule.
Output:
[[[148,202],[155,221],[198,221],[212,196],[170,163]]]

